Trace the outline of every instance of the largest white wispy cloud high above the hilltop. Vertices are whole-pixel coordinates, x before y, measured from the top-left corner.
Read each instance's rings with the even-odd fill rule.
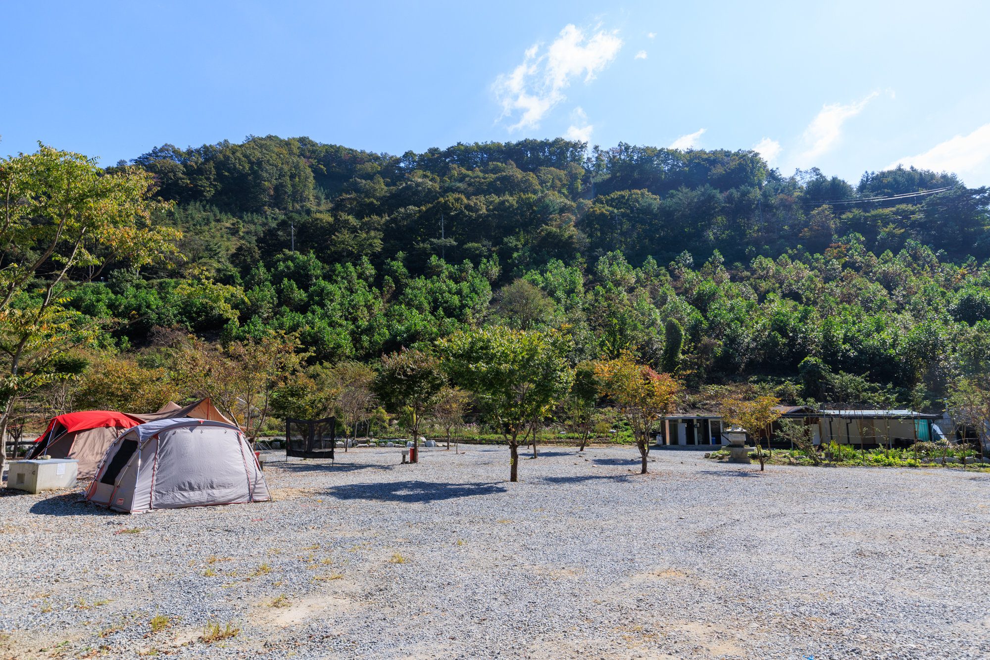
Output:
[[[590,39],[573,25],[560,31],[559,37],[537,56],[541,44],[526,50],[523,63],[495,79],[492,89],[502,105],[503,117],[521,111],[519,122],[509,127],[536,128],[546,114],[566,97],[563,90],[572,78],[584,75],[584,82],[595,79],[595,73],[604,69],[622,47],[622,40],[615,33],[600,31]]]

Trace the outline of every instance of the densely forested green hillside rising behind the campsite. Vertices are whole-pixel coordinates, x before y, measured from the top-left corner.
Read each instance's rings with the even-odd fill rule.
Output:
[[[553,327],[575,363],[630,348],[692,387],[841,371],[902,400],[990,357],[990,191],[952,174],[848,183],[745,150],[557,139],[393,156],[271,136],[164,144],[107,171],[130,168],[174,202],[156,222],[182,232],[184,258],[119,263],[73,294],[123,322],[125,350],[162,329],[298,330],[311,363],[336,363],[485,324]],[[177,296],[190,278],[229,285],[240,316]]]

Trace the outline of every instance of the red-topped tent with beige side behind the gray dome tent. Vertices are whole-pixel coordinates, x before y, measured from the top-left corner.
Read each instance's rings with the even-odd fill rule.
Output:
[[[48,429],[28,452],[28,458],[49,455],[79,461],[80,479],[92,477],[120,432],[144,420],[115,411],[85,411],[53,418]]]

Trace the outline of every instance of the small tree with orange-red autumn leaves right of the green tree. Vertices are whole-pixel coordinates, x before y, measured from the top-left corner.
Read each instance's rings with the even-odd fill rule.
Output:
[[[633,426],[643,458],[641,474],[646,474],[649,430],[653,422],[670,415],[680,385],[670,374],[656,373],[645,364],[637,364],[628,350],[618,359],[597,363],[595,374],[601,381],[602,394],[616,402]]]

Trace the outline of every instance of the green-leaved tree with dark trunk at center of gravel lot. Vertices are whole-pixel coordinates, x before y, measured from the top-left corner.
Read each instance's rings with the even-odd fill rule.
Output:
[[[519,481],[519,435],[570,389],[570,337],[555,330],[487,328],[440,340],[450,378],[472,392],[509,443],[509,481]],[[526,437],[524,437],[524,440]]]

